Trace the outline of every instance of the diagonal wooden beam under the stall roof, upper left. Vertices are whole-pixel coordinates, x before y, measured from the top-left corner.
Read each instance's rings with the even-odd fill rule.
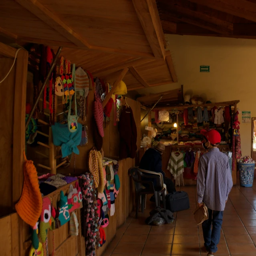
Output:
[[[40,20],[48,24],[51,28],[58,31],[75,45],[89,49],[91,46],[86,40],[81,38],[74,30],[67,26],[55,14],[50,12],[37,0],[15,0],[26,10],[36,15]]]

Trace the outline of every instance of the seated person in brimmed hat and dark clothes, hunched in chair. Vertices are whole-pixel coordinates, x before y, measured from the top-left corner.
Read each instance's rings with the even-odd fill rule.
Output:
[[[156,147],[149,148],[141,158],[139,168],[147,171],[155,171],[163,174],[163,183],[165,183],[168,193],[176,191],[171,179],[165,177],[162,170],[162,154],[165,151],[165,145],[158,143]],[[153,200],[153,198],[152,198]]]

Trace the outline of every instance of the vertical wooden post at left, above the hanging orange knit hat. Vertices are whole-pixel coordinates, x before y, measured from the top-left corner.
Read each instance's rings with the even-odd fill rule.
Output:
[[[23,186],[23,151],[25,150],[26,81],[28,52],[19,50],[16,60],[12,151],[12,202],[19,200]]]

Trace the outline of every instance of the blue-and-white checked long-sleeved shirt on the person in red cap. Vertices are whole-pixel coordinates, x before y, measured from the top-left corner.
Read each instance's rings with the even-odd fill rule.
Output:
[[[200,158],[198,167],[198,203],[214,211],[224,211],[233,181],[228,157],[212,148]]]

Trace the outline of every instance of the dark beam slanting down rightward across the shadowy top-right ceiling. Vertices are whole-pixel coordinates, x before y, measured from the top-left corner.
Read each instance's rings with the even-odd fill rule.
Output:
[[[219,18],[204,14],[203,12],[184,8],[183,6],[181,6],[180,0],[170,0],[168,2],[160,0],[159,7],[165,11],[171,10],[171,12],[180,13],[195,20],[202,20],[204,22],[208,22],[208,24],[212,24],[211,28],[214,28],[216,30],[215,32],[232,34],[233,23],[227,22],[225,20],[220,20]]]

